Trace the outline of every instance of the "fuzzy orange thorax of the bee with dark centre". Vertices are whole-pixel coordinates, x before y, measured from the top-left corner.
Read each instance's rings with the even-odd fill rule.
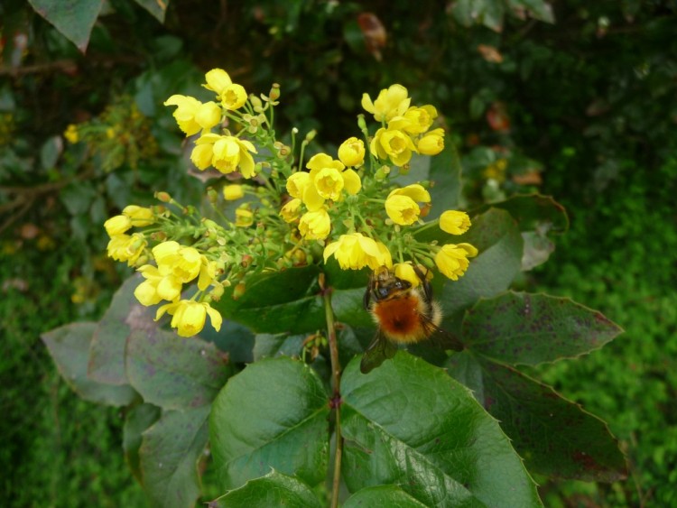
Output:
[[[420,305],[418,296],[408,294],[379,301],[374,305],[373,313],[385,337],[393,342],[413,343],[427,337]]]

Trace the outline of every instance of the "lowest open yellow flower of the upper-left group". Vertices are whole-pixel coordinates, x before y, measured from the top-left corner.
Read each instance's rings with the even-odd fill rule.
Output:
[[[210,158],[211,165],[224,174],[239,169],[245,178],[254,176],[255,163],[250,152],[256,153],[256,149],[252,143],[235,136],[203,134],[195,144],[190,160],[199,170],[208,167],[205,162]]]

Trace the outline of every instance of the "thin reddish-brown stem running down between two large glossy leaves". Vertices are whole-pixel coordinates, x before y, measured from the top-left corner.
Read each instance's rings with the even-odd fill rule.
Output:
[[[336,450],[334,451],[334,480],[331,486],[331,508],[338,507],[338,487],[341,481],[341,455],[343,452],[343,438],[341,437],[341,366],[338,364],[338,345],[336,328],[334,327],[334,312],[331,309],[331,290],[323,291],[324,312],[327,319],[327,337],[329,340],[329,356],[331,358],[331,407],[335,411]]]

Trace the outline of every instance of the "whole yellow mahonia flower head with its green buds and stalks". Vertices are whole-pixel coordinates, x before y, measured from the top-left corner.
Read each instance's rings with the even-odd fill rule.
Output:
[[[385,266],[413,286],[421,283],[422,271],[430,277],[437,268],[454,281],[466,272],[468,258],[478,254],[473,245],[422,243],[412,231],[439,226],[461,235],[470,226],[468,215],[447,210],[426,224],[430,182],[394,183],[409,171],[414,153],[443,150],[443,129],[431,129],[434,106],[412,106],[407,89],[397,84],[376,100],[364,94],[362,106],[376,120],[376,132],[358,115],[361,138],[350,136],[337,154],[316,153],[306,162],[314,132],[297,143],[293,129],[292,146],[276,139],[277,84],[259,98],[247,96],[223,69],[210,70],[205,79],[214,100],[173,95],[164,104],[176,106],[173,116],[187,137],[199,135],[190,154],[195,167],[229,175],[221,189],[208,189],[213,218],[158,192],[161,205],[130,205],[105,223],[108,255],[144,277],[136,299],[145,306],[162,303],[156,320],[168,313],[172,328],[192,337],[209,316],[218,331],[222,318],[210,302],[229,286],[234,298],[241,296],[247,273],[328,263],[332,256],[343,270]],[[237,176],[240,183],[232,183]],[[235,217],[224,215],[225,201],[241,201]],[[197,291],[184,298],[184,285],[194,282]]]

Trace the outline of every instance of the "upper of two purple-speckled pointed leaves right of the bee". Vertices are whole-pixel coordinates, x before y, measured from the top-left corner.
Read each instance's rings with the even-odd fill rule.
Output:
[[[568,298],[508,292],[468,310],[462,340],[499,363],[538,365],[585,355],[622,331],[600,312]]]

